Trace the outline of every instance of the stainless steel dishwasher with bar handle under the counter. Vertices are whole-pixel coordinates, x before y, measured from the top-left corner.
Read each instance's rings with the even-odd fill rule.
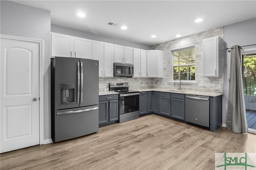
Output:
[[[206,96],[186,95],[185,120],[210,127],[210,101]]]

